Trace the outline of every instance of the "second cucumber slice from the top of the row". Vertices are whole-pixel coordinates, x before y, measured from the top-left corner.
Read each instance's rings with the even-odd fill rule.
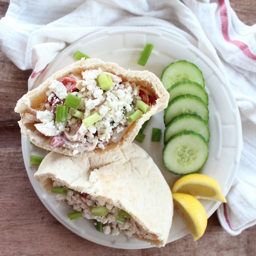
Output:
[[[201,84],[196,82],[180,81],[173,84],[167,91],[170,94],[169,102],[171,102],[177,96],[190,94],[198,96],[204,102],[204,104],[208,106],[208,94],[201,86]]]

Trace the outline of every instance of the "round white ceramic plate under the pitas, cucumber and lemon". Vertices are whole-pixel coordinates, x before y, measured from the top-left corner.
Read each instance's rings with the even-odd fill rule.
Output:
[[[146,43],[154,44],[153,52],[145,67],[137,65],[137,60]],[[224,195],[233,183],[238,168],[242,139],[241,122],[228,83],[221,71],[202,52],[186,41],[175,35],[149,28],[122,27],[104,30],[89,35],[64,49],[35,82],[34,87],[75,60],[73,54],[81,50],[90,57],[100,58],[103,61],[118,63],[121,67],[131,70],[149,70],[159,78],[163,69],[173,61],[187,60],[196,64],[203,72],[206,90],[209,94],[209,129],[211,133],[209,141],[209,159],[201,170],[201,173],[213,177],[221,186]],[[151,142],[152,127],[162,128],[161,142]],[[146,134],[143,143],[138,143],[154,159],[170,186],[179,178],[168,172],[162,163],[163,149],[163,111],[151,117],[151,121],[145,128]],[[50,198],[33,175],[36,167],[29,164],[31,154],[45,156],[47,151],[32,146],[29,140],[22,139],[23,158],[30,182],[35,192],[51,212],[51,214],[69,230],[84,239],[109,247],[123,249],[140,249],[150,247],[143,241],[127,239],[124,235],[110,236],[96,231],[93,221],[78,219],[70,221],[67,214],[70,209],[65,208]],[[209,217],[218,208],[219,202],[201,201]],[[154,218],[154,216],[152,216]],[[49,227],[50,229],[50,227]],[[185,224],[174,212],[173,224],[170,230],[168,242],[175,241],[188,233]]]

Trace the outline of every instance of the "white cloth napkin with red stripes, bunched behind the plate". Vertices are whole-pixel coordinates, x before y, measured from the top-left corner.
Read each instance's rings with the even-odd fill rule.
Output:
[[[11,0],[0,20],[2,51],[35,79],[68,44],[109,26],[150,26],[189,41],[226,76],[241,114],[244,148],[218,218],[230,234],[256,224],[256,25],[228,0]]]

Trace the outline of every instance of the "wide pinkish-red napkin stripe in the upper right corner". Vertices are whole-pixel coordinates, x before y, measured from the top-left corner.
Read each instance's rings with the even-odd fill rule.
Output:
[[[231,40],[229,38],[228,35],[228,17],[227,17],[227,6],[225,4],[225,0],[219,0],[219,4],[220,4],[220,16],[221,16],[221,30],[222,30],[222,35],[224,37],[224,39],[230,43],[230,44],[234,44],[237,47],[239,47],[239,49],[241,49],[241,51],[244,53],[244,55],[246,55],[248,58],[253,59],[254,61],[256,61],[256,55],[254,55],[247,44],[241,42],[241,41],[237,41],[237,40]]]

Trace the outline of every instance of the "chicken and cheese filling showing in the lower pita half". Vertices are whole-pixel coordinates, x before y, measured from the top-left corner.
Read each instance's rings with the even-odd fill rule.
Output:
[[[113,206],[99,198],[94,198],[87,193],[80,193],[66,188],[56,180],[51,180],[52,195],[55,200],[69,205],[76,212],[81,212],[82,217],[94,219],[102,224],[102,231],[105,234],[117,236],[123,233],[128,237],[137,236],[141,239],[156,240],[157,236],[148,233],[135,221],[127,212]],[[58,192],[56,188],[65,190]],[[55,190],[54,190],[55,189]],[[63,191],[63,190],[62,190]]]

